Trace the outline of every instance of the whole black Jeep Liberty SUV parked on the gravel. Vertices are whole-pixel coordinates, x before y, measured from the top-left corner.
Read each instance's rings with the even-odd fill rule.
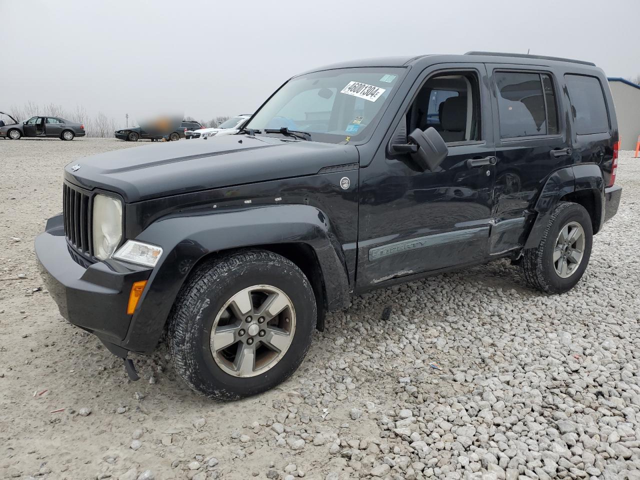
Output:
[[[278,385],[352,295],[508,258],[571,289],[617,211],[618,127],[592,63],[470,52],[353,61],[283,84],[236,135],[64,172],[36,253],[115,355],[166,335],[214,399]]]

